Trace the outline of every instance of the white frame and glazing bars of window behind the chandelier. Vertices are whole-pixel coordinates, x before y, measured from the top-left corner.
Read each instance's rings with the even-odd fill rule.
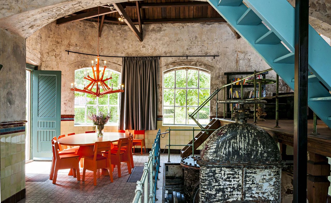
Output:
[[[81,69],[77,69],[75,70],[75,84],[76,84],[76,73],[78,71],[84,70],[84,75],[86,76],[87,73],[89,73],[90,75],[92,74],[92,68],[91,67],[85,67],[85,68],[81,68]],[[118,84],[113,84],[113,88],[114,90],[118,89],[118,87],[120,86],[120,82],[121,82],[121,73],[109,68],[106,68],[106,71],[108,71],[107,75],[105,73],[104,78],[108,78],[110,76],[110,74],[113,74],[113,78],[114,78],[114,74],[118,74]],[[92,74],[93,75],[93,74]],[[111,80],[109,86],[111,86]],[[83,88],[82,86],[80,86],[79,88]],[[117,104],[110,104],[110,96],[113,96],[112,94],[107,94],[105,97],[108,97],[107,100],[107,104],[99,104],[99,97],[96,97],[96,104],[88,104],[88,99],[87,99],[87,94],[86,93],[80,93],[80,94],[84,94],[85,95],[85,104],[77,104],[76,102],[76,97],[75,97],[75,104],[74,104],[74,109],[75,109],[75,115],[76,115],[76,108],[84,108],[84,122],[77,122],[76,119],[74,121],[75,125],[92,125],[92,122],[88,120],[87,115],[89,113],[88,111],[88,107],[95,107],[96,108],[96,113],[99,113],[99,107],[107,107],[108,112],[112,109],[114,111],[112,111],[112,118],[110,120],[110,122],[107,123],[107,125],[118,125],[118,120],[119,120],[119,93],[113,93],[117,95]],[[114,108],[116,107],[116,108]],[[115,109],[117,110],[116,114],[115,114]],[[76,117],[75,117],[76,118]],[[116,120],[116,122],[114,122]]]

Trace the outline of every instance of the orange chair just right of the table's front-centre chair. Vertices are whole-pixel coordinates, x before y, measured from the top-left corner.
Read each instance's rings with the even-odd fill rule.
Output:
[[[126,146],[125,151],[121,151],[121,147]],[[118,140],[118,149],[117,150],[111,150],[111,160],[112,164],[117,166],[118,171],[118,178],[121,177],[121,162],[125,162],[127,164],[127,169],[129,174],[131,174],[131,163],[130,163],[130,153],[131,148],[130,146],[130,139],[129,137],[120,138]],[[109,152],[102,152],[104,156],[109,156]]]

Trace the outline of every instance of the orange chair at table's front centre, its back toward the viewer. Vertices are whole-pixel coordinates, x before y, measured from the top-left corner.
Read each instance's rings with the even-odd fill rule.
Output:
[[[111,141],[95,142],[94,144],[94,155],[83,156],[84,168],[83,168],[83,181],[85,181],[85,171],[93,171],[94,185],[97,185],[97,172],[98,178],[100,178],[99,169],[109,168],[110,181],[113,182],[113,170],[111,156],[102,156],[101,151],[111,151],[113,148]]]

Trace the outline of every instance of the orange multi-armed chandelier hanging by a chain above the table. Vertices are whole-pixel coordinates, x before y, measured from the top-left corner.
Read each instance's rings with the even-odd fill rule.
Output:
[[[99,7],[98,7],[98,27],[99,27]],[[121,87],[118,88],[118,90],[113,89],[113,83],[112,87],[109,87],[105,82],[107,80],[113,79],[112,75],[110,75],[109,78],[105,78],[105,71],[106,71],[106,61],[104,61],[105,65],[103,67],[103,70],[100,71],[99,69],[99,29],[98,29],[98,55],[97,59],[95,59],[95,69],[94,69],[94,61],[92,60],[92,72],[93,72],[93,78],[90,77],[89,75],[84,76],[84,79],[89,81],[89,84],[86,85],[83,89],[78,89],[75,87],[74,83],[71,83],[71,91],[77,91],[77,92],[83,92],[87,94],[91,94],[92,97],[104,97],[106,94],[111,94],[111,93],[117,93],[117,92],[124,92],[124,85],[121,85]],[[86,83],[87,84],[87,83]],[[93,87],[96,86],[96,90],[93,91]],[[102,92],[100,89],[102,88]]]

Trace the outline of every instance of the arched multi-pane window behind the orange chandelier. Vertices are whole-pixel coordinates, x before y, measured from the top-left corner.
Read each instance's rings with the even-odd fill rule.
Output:
[[[75,86],[83,89],[86,86],[87,80],[84,76],[93,76],[92,68],[82,68],[75,71]],[[110,87],[113,84],[113,89],[117,90],[120,86],[120,73],[106,69],[104,78],[112,76],[113,79],[107,80],[107,85]],[[94,91],[96,86],[93,87]],[[91,97],[91,94],[75,92],[75,124],[92,124],[92,121],[87,118],[89,113],[111,114],[111,119],[108,124],[118,124],[119,118],[119,93],[106,94],[104,97]]]

